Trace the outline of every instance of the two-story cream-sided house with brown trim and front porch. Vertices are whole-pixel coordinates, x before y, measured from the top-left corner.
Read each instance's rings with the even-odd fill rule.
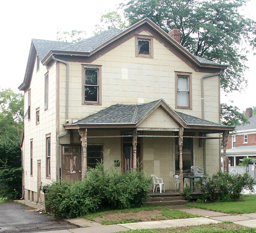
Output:
[[[234,129],[219,124],[227,66],[189,53],[177,29],[170,35],[146,18],[73,44],[32,39],[19,86],[25,200],[43,201],[42,184],[81,179],[101,159],[125,171],[138,159],[166,189],[192,165],[220,168],[220,133]]]

